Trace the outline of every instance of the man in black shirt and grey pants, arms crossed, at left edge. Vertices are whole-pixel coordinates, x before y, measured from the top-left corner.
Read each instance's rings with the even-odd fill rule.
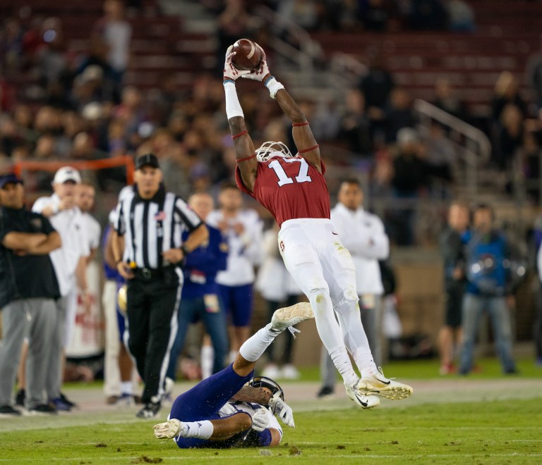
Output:
[[[47,360],[56,325],[59,284],[49,252],[61,239],[49,220],[24,206],[23,180],[0,178],[0,308],[4,343],[0,346],[0,416],[20,416],[11,404],[21,348],[28,346],[29,414],[54,414],[44,398]]]

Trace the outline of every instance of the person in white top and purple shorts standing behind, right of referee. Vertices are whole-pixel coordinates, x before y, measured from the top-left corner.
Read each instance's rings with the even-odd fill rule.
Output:
[[[220,186],[221,209],[207,216],[207,223],[227,238],[227,268],[217,274],[220,297],[233,332],[230,337],[230,359],[248,339],[253,311],[254,266],[263,259],[263,223],[254,210],[242,209],[241,191],[232,182]]]

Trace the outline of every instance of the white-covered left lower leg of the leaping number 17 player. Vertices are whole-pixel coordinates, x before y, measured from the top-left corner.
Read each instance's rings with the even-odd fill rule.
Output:
[[[322,340],[333,363],[341,373],[344,385],[351,386],[359,380],[347,353],[341,336],[339,323],[335,319],[333,304],[327,290],[315,290],[308,297],[313,306],[314,319],[318,335]]]

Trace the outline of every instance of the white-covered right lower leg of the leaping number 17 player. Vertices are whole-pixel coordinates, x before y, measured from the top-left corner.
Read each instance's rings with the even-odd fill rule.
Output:
[[[373,361],[373,354],[363,323],[361,323],[361,314],[359,304],[353,301],[347,301],[335,307],[339,325],[341,327],[344,344],[352,354],[356,362],[361,377],[365,378],[371,373],[375,373],[376,365]]]

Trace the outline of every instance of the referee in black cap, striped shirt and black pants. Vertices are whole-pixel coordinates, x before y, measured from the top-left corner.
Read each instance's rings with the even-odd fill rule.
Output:
[[[183,199],[164,190],[153,154],[135,160],[135,185],[119,195],[114,229],[114,259],[128,283],[128,350],[145,384],[144,407],[137,416],[150,419],[160,409],[177,330],[183,284],[179,265],[209,233]]]

